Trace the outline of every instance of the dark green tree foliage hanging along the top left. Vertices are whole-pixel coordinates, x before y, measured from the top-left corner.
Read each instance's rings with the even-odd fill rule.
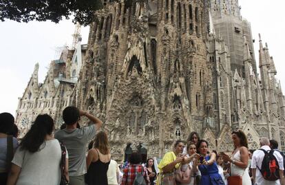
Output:
[[[120,0],[112,0],[118,2]],[[146,0],[124,0],[127,8]],[[95,10],[103,8],[101,0],[0,0],[0,21],[47,21],[59,23],[74,17],[73,22],[89,25],[95,19]]]

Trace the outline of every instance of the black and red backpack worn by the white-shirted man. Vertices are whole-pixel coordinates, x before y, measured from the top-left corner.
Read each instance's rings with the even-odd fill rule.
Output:
[[[279,164],[277,162],[276,157],[273,155],[274,150],[265,151],[264,149],[260,149],[264,152],[264,157],[262,160],[262,166],[257,168],[262,173],[262,177],[268,181],[276,181],[280,179],[279,177]]]

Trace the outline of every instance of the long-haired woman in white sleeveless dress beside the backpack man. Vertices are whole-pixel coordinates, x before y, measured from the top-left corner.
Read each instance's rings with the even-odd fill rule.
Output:
[[[243,131],[233,131],[231,134],[235,151],[232,157],[222,153],[225,162],[231,162],[231,176],[241,176],[242,185],[251,185],[251,177],[249,177],[249,150],[246,135]]]

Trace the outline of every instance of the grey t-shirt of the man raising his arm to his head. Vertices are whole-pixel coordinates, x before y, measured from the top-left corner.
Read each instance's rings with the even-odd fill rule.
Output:
[[[87,173],[85,150],[89,140],[94,138],[96,127],[94,124],[72,131],[63,129],[54,133],[54,138],[65,144],[68,151],[68,172],[70,176]]]

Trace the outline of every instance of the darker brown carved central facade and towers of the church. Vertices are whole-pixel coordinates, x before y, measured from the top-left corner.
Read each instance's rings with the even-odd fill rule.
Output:
[[[202,133],[213,109],[204,10],[163,0],[106,2],[96,12],[74,102],[105,119],[113,156],[137,146],[161,156]]]

